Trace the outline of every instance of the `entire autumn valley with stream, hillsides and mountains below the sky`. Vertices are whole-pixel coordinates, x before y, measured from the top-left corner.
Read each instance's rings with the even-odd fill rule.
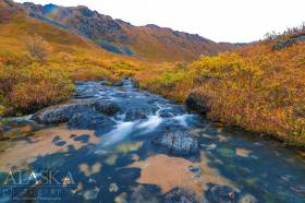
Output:
[[[0,180],[28,183],[0,202],[304,202],[304,24],[216,43],[1,0]]]

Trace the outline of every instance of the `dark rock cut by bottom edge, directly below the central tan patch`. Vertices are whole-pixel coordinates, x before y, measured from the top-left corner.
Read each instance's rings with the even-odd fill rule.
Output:
[[[163,203],[198,203],[198,199],[194,192],[182,189],[174,188],[164,194]]]

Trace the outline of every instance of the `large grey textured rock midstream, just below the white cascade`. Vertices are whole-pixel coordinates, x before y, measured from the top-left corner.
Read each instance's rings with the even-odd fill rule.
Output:
[[[154,144],[163,146],[176,155],[191,155],[198,152],[197,140],[185,130],[167,131],[152,140]]]

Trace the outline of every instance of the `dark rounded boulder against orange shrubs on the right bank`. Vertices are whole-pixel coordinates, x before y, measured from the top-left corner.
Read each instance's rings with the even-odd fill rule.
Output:
[[[188,94],[185,105],[188,109],[194,110],[198,114],[206,115],[210,109],[208,107],[208,97],[200,95],[196,92]]]

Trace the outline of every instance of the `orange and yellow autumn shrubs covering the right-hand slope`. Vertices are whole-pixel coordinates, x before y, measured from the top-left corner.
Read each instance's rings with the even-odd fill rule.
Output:
[[[304,146],[305,44],[274,50],[277,43],[279,37],[203,57],[184,68],[163,64],[138,73],[136,80],[139,86],[180,101],[192,92],[203,98],[210,109],[207,117],[213,120]]]

